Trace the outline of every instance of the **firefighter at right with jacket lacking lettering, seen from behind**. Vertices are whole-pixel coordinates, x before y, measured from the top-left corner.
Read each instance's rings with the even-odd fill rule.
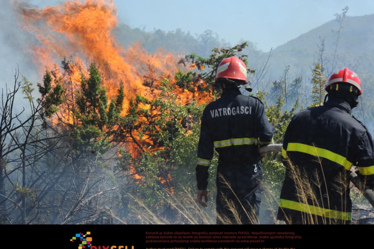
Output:
[[[365,187],[374,187],[373,139],[351,116],[362,93],[359,77],[342,69],[332,74],[325,89],[328,101],[297,113],[285,132],[286,176],[277,218],[289,224],[349,224],[348,174],[353,165]]]

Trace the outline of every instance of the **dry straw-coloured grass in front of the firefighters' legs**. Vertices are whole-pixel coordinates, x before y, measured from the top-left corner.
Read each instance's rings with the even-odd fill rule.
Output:
[[[345,195],[345,189],[349,187],[350,181],[346,175],[341,173],[335,179],[336,184],[334,185],[333,190],[327,189],[327,184],[325,184],[325,173],[322,167],[322,161],[320,158],[316,157],[316,162],[319,163],[321,166],[320,170],[315,170],[313,175],[307,175],[305,171],[301,171],[299,167],[292,165],[290,160],[288,160],[289,167],[289,176],[294,179],[295,187],[297,190],[297,200],[300,203],[308,204],[317,207],[317,209],[334,209],[329,205],[329,195],[323,195],[323,192],[331,193],[331,191],[336,191],[341,196],[341,208],[345,210],[344,203],[346,198],[349,196]],[[229,182],[223,178],[222,175],[219,175],[221,181],[229,188],[232,193],[232,190]],[[352,185],[352,184],[351,184]],[[275,191],[271,190],[267,187],[266,184],[262,185],[263,188],[263,200],[266,200],[267,205],[270,206],[270,214],[268,212],[268,216],[265,217],[273,224],[284,224],[282,221],[278,221],[276,219],[276,213],[278,209],[278,201],[279,196],[276,196],[274,193]],[[141,200],[138,198],[131,196],[134,200],[136,205],[132,208],[132,216],[129,217],[129,220],[136,220],[138,223],[141,224],[216,224],[216,217],[218,221],[222,224],[242,224],[240,221],[239,210],[242,210],[244,215],[252,222],[252,224],[258,224],[258,217],[255,215],[254,212],[247,212],[244,207],[244,203],[240,203],[239,198],[235,195],[237,201],[240,203],[240,207],[238,209],[235,207],[233,200],[228,199],[226,196],[223,196],[223,201],[226,203],[226,207],[232,212],[232,217],[227,216],[217,216],[215,211],[215,202],[208,202],[208,207],[203,208],[200,206],[196,199],[196,192],[197,190],[191,188],[185,188],[181,186],[183,190],[182,193],[176,195],[170,195],[168,192],[165,191],[163,195],[161,195],[164,203],[167,203],[169,210],[171,211],[172,215],[165,215],[163,213],[155,214],[150,210]],[[324,191],[322,191],[324,189]],[[357,192],[357,190],[355,190]],[[209,193],[212,195],[213,193]],[[209,196],[208,196],[209,197]],[[321,199],[327,198],[328,205],[324,206],[321,204]],[[362,200],[362,199],[361,199]],[[249,205],[249,203],[248,203]],[[263,203],[261,205],[264,205]],[[303,217],[303,224],[336,224],[341,222],[341,220],[328,218],[327,216],[318,216],[311,214],[312,211],[309,209],[309,206],[306,212],[302,213]],[[283,211],[283,209],[280,209]],[[262,213],[263,214],[263,213]],[[264,214],[263,214],[264,215]],[[170,217],[171,216],[171,217]],[[118,219],[118,218],[116,218]],[[322,222],[321,222],[322,221]],[[126,223],[126,221],[123,221]],[[127,222],[128,223],[128,222]],[[291,224],[291,217],[286,217],[286,224]],[[343,221],[343,224],[345,221]]]

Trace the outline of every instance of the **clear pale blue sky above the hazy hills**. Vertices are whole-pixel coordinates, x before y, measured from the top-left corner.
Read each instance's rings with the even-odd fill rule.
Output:
[[[28,0],[40,7],[56,0]],[[348,6],[349,16],[374,13],[371,0],[114,0],[120,22],[132,28],[165,31],[181,28],[191,34],[213,30],[232,44],[240,39],[268,51],[334,19]]]

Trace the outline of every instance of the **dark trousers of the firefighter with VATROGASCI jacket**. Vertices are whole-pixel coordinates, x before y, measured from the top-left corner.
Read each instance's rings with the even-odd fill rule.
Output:
[[[226,182],[220,175],[224,177]],[[258,223],[262,175],[263,170],[260,164],[249,166],[218,165],[216,179],[217,224]]]

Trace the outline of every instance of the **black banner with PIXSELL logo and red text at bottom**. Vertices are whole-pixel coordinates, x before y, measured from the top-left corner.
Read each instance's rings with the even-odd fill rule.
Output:
[[[12,247],[64,249],[325,248],[357,245],[357,236],[371,238],[371,231],[370,225],[1,225]]]

